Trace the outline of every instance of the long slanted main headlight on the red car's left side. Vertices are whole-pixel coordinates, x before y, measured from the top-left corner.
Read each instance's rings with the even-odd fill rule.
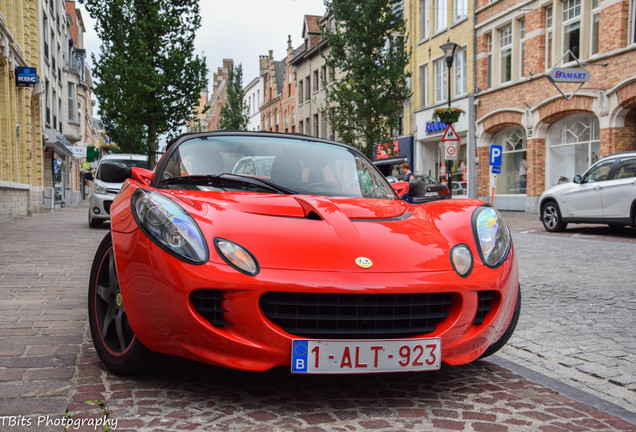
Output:
[[[191,264],[208,261],[208,247],[199,226],[179,204],[145,189],[137,189],[130,204],[139,228],[166,252]]]

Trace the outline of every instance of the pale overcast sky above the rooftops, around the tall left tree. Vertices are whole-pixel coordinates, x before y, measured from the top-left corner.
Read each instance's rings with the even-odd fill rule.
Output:
[[[88,27],[84,34],[85,48],[98,55],[100,42],[94,30],[95,21],[79,1],[76,5]],[[199,5],[201,28],[195,50],[206,57],[210,91],[212,74],[223,65],[224,58],[243,65],[243,85],[247,85],[258,76],[259,55],[273,50],[274,60],[284,59],[287,35],[291,35],[292,46],[298,47],[302,42],[303,17],[325,12],[323,0],[200,0]]]

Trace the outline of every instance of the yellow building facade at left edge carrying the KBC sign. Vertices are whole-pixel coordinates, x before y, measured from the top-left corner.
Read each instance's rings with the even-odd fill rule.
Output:
[[[42,211],[41,85],[16,81],[39,62],[38,0],[0,0],[0,221]]]

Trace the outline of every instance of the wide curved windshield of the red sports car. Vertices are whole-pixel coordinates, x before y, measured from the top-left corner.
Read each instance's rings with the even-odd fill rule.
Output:
[[[357,152],[302,138],[195,137],[166,157],[157,172],[163,188],[396,199]]]

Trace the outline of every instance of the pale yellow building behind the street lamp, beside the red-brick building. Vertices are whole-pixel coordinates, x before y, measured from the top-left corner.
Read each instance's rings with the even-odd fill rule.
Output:
[[[453,195],[467,195],[474,170],[474,4],[469,0],[405,0],[404,14],[411,50],[413,95],[405,107],[404,130],[413,134],[412,168],[418,174],[446,180],[452,172]],[[440,46],[457,44],[449,69]],[[449,76],[450,73],[450,76]],[[450,78],[450,79],[449,79]],[[450,87],[450,93],[449,93]],[[460,141],[452,166],[441,142],[446,124],[436,122],[436,108],[449,103],[464,111],[453,128]],[[475,171],[476,172],[476,171]]]

